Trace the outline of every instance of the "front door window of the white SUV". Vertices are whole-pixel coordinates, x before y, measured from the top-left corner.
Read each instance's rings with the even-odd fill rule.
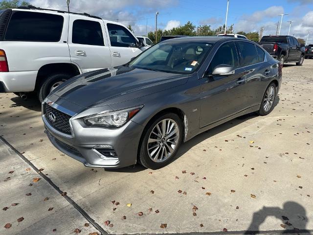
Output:
[[[136,39],[125,27],[118,24],[107,24],[112,47],[134,47]]]

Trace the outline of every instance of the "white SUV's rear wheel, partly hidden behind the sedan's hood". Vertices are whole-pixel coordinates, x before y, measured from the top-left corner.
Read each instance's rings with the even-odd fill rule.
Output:
[[[67,73],[55,73],[49,75],[45,81],[41,84],[40,89],[37,91],[38,99],[43,102],[45,97],[52,92],[55,88],[67,81],[72,76]]]

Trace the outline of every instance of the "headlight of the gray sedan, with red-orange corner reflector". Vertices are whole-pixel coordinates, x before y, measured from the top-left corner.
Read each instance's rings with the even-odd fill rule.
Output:
[[[88,126],[118,128],[133,118],[135,114],[137,114],[140,109],[142,109],[142,107],[143,105],[140,105],[133,108],[88,116],[84,118],[84,122]]]

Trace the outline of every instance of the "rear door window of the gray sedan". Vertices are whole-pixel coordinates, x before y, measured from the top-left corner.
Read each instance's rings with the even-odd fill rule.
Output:
[[[246,67],[259,63],[258,53],[252,43],[236,42],[236,45],[240,52],[240,67]]]

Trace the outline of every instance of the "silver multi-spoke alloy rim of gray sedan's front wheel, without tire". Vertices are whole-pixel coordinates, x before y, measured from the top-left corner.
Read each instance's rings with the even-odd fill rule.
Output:
[[[171,118],[159,121],[152,129],[147,149],[150,159],[162,163],[172,156],[179,143],[179,126]]]

